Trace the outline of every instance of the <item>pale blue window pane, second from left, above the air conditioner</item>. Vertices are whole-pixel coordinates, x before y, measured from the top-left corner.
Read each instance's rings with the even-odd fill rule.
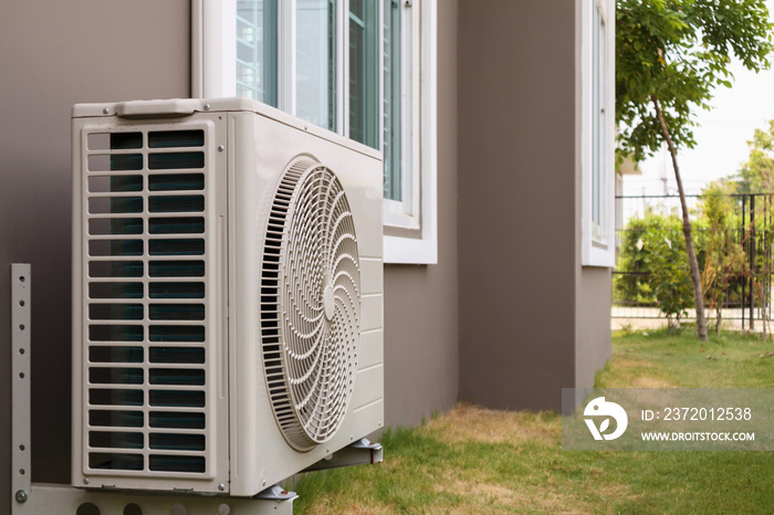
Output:
[[[296,1],[296,115],[336,130],[336,4]]]

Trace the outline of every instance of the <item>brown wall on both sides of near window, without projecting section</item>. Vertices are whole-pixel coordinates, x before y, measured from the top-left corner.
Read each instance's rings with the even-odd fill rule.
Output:
[[[418,423],[458,399],[456,0],[441,2],[438,38],[440,259],[385,270],[388,425]],[[190,2],[12,2],[0,17],[0,419],[9,421],[0,484],[11,474],[14,262],[32,263],[33,274],[32,479],[69,483],[71,107],[189,96]]]

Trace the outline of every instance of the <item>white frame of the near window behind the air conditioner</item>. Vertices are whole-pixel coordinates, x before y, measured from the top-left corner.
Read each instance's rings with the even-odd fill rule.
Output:
[[[379,12],[383,11],[379,0]],[[435,264],[438,262],[438,137],[437,137],[437,20],[438,0],[401,0],[402,8],[412,9],[411,116],[404,119],[404,134],[410,128],[412,146],[409,170],[410,181],[404,190],[409,204],[385,201],[384,261],[385,263]],[[281,77],[278,104],[282,111],[295,114],[294,87],[295,62],[292,52],[295,40],[295,0],[279,2],[279,21],[285,30],[280,31],[278,74]],[[191,94],[194,97],[224,97],[237,93],[236,59],[236,0],[191,0]],[[337,87],[336,127],[341,134],[348,133],[348,116],[345,99],[348,98],[348,0],[337,1]],[[379,33],[381,33],[379,23]],[[384,39],[379,36],[379,45]],[[379,52],[379,59],[384,56]],[[405,56],[401,56],[401,61]],[[379,63],[381,75],[381,63]],[[380,91],[384,91],[379,78]],[[407,85],[406,85],[407,86]],[[379,95],[380,97],[381,95]],[[384,103],[379,113],[384,115]],[[410,124],[410,127],[408,126]],[[379,141],[383,130],[379,120]],[[406,138],[404,138],[406,139]],[[407,168],[406,168],[407,167]]]

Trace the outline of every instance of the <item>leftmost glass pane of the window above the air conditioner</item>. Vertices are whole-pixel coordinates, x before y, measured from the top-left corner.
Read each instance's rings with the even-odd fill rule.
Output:
[[[237,0],[237,96],[275,106],[276,0]]]

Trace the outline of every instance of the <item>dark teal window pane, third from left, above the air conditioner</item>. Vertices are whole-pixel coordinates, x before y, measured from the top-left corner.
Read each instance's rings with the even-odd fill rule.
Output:
[[[349,137],[374,148],[379,126],[377,4],[349,0]]]

